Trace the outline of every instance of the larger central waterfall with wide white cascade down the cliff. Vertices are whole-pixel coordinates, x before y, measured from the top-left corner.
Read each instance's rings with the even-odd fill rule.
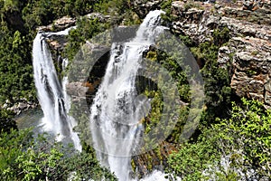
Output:
[[[113,43],[106,74],[90,108],[90,129],[97,156],[120,181],[131,180],[131,155],[136,148],[145,113],[141,106],[149,103],[137,96],[135,77],[143,52],[154,44],[154,36],[161,29],[160,14],[155,10],[145,17],[143,24],[129,43]]]

